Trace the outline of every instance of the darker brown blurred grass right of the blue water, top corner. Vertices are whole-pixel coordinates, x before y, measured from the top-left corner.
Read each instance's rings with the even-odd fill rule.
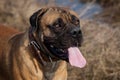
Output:
[[[96,2],[103,7],[103,11],[96,15],[96,20],[118,24],[120,22],[120,0],[80,0],[84,3]],[[89,6],[88,6],[89,7]]]

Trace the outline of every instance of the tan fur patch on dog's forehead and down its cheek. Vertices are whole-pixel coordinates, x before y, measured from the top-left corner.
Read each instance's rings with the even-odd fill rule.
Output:
[[[67,13],[62,13],[61,11],[59,11],[59,9],[54,10],[54,8],[50,8],[44,14],[42,19],[39,21],[39,22],[41,22],[41,26],[43,27],[44,35],[46,35],[46,36],[51,36],[51,35],[54,36],[54,34],[52,34],[50,32],[50,30],[46,26],[48,24],[52,24],[57,18],[62,18],[65,23],[68,23],[68,22],[71,21],[71,16],[70,15],[74,15],[77,18],[79,18],[78,15],[74,11],[69,10],[69,9],[65,9],[65,10],[67,11]]]

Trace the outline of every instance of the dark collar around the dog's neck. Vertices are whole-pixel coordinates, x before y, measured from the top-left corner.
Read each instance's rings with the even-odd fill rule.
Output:
[[[41,60],[41,63],[44,65],[45,60],[43,59],[42,55],[44,55],[45,57],[47,57],[47,59],[49,60],[49,62],[53,62],[54,60],[58,60],[57,57],[55,57],[46,47],[45,45],[41,42],[38,43],[37,40],[35,39],[33,32],[31,30],[31,28],[29,29],[29,40],[30,43],[29,45],[32,45],[35,49],[35,51],[37,52],[37,55],[39,57],[39,59]],[[41,55],[42,53],[42,55]]]

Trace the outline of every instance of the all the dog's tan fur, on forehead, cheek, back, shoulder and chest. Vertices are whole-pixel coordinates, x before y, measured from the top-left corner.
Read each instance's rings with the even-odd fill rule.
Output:
[[[43,9],[45,10],[46,8]],[[50,8],[39,21],[43,35],[54,36],[47,24],[52,24],[57,18],[60,17],[67,23],[70,21],[69,14],[76,16],[73,11],[67,10],[67,12],[61,15],[59,8]],[[36,52],[28,46],[28,31],[10,39],[14,33],[18,32],[9,28],[2,29],[2,27],[0,26],[0,80],[67,80],[65,61],[45,62],[44,66],[41,65],[33,55]],[[6,31],[7,33],[3,34]],[[34,35],[36,36],[36,33]]]

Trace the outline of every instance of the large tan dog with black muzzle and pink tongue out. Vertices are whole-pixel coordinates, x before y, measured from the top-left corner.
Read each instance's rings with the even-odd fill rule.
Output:
[[[41,8],[31,27],[9,40],[0,53],[0,80],[67,80],[67,65],[84,67],[77,14],[61,7]],[[6,52],[5,52],[6,51]]]

